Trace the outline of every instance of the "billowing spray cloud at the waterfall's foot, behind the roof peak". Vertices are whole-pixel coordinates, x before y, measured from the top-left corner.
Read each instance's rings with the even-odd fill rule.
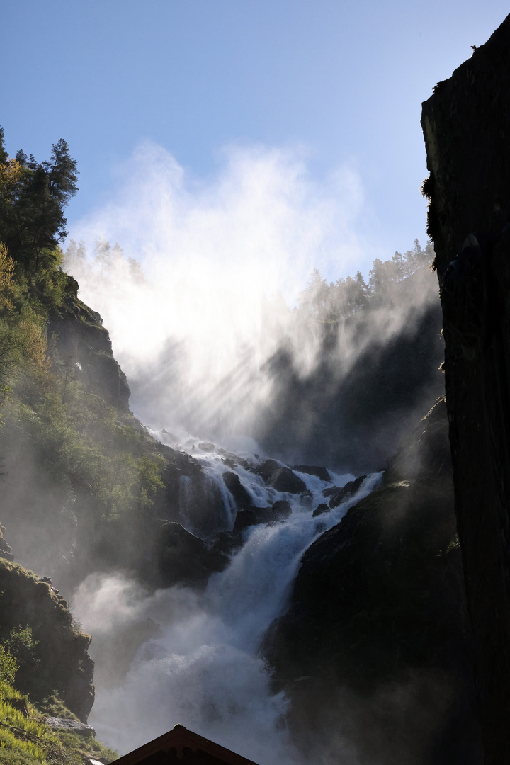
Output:
[[[123,754],[179,722],[255,761],[294,765],[280,729],[284,695],[271,694],[265,662],[203,597],[148,595],[119,574],[92,575],[73,604],[94,634],[91,722],[112,747]]]

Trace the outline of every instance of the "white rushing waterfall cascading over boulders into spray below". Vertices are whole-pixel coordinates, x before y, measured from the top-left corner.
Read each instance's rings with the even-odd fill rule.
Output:
[[[164,433],[158,436],[166,440]],[[187,451],[199,459],[208,480],[224,496],[219,525],[232,528],[235,503],[221,477],[232,468],[216,451],[200,453],[194,446],[190,439]],[[239,456],[255,460],[251,452]],[[285,522],[247,529],[242,548],[224,571],[210,578],[203,593],[174,587],[147,594],[120,575],[93,575],[76,592],[74,610],[99,648],[148,619],[161,626],[126,662],[121,679],[112,681],[99,657],[90,724],[119,754],[180,723],[261,765],[300,763],[284,729],[286,698],[271,692],[268,667],[258,649],[287,602],[304,551],[366,496],[381,474],[370,475],[355,496],[313,518],[313,509],[324,501],[323,490],[343,486],[351,475],[333,474],[326,482],[297,473],[308,490],[298,496],[278,493],[243,467],[235,470],[255,506],[288,500],[292,514]],[[190,480],[183,478],[180,486],[184,517]]]

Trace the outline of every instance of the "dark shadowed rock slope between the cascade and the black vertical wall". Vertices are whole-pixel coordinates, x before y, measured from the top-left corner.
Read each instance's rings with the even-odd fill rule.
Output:
[[[482,762],[447,428],[440,401],[406,460],[307,550],[268,636],[310,761],[320,737],[333,760]]]

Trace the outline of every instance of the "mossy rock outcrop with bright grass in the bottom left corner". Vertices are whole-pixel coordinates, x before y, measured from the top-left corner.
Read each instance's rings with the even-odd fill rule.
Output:
[[[87,757],[115,760],[115,752],[93,737],[52,731],[45,724],[47,716],[78,719],[61,693],[71,677],[83,675],[80,656],[85,655],[89,636],[76,630],[50,585],[20,565],[0,562],[0,588],[2,765],[83,765]],[[31,623],[8,630],[16,617]],[[52,682],[60,690],[47,693]]]

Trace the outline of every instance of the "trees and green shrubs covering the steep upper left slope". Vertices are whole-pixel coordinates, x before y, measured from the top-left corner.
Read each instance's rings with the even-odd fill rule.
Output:
[[[61,268],[63,206],[75,193],[76,161],[66,142],[37,163],[22,151],[8,158],[0,133],[0,401],[10,425],[0,449],[23,451],[30,441],[44,474],[73,496],[92,494],[96,521],[109,522],[151,505],[164,461],[146,453],[108,391],[98,395],[91,370],[76,359],[80,337],[73,348],[54,330],[80,324],[74,334],[96,342],[94,360],[102,356],[102,366],[117,372],[99,317]]]

